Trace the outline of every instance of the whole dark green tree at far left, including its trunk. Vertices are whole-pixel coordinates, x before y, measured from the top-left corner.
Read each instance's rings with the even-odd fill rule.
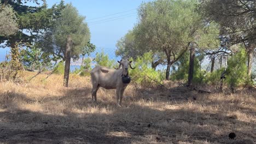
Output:
[[[37,39],[39,33],[44,33],[45,29],[50,27],[53,20],[54,9],[48,9],[44,0],[43,5],[39,5],[38,0],[2,0],[3,7],[12,7],[18,22],[19,31],[11,35],[0,35],[0,43],[4,43],[1,47],[11,48],[11,69],[17,73],[20,69],[19,48],[27,44],[31,45]],[[26,5],[27,2],[34,2],[38,5],[31,7]],[[11,25],[8,25],[11,30]],[[15,28],[14,28],[15,30]],[[15,79],[15,77],[13,77]]]

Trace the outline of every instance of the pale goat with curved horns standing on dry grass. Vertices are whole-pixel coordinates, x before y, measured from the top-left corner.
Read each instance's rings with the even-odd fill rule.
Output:
[[[98,88],[103,87],[106,89],[117,89],[117,105],[121,106],[123,94],[126,86],[130,82],[129,71],[128,68],[130,66],[131,69],[135,69],[131,67],[131,62],[127,58],[121,59],[118,61],[119,67],[115,69],[96,66],[91,70],[91,82],[92,82],[92,91],[91,98],[92,101],[97,103],[97,91]],[[122,67],[120,69],[120,67]]]

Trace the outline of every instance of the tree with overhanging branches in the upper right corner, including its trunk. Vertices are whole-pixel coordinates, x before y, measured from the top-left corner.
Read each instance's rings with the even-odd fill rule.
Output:
[[[220,25],[227,46],[243,43],[247,51],[247,74],[251,77],[256,46],[256,3],[254,0],[202,0],[201,10],[208,21]],[[220,16],[221,15],[221,16]]]

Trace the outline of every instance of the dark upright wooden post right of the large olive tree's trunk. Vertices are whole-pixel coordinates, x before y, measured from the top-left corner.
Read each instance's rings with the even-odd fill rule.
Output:
[[[195,59],[195,48],[192,46],[190,48],[190,57],[189,57],[188,87],[192,86],[193,72],[194,72],[194,59]]]

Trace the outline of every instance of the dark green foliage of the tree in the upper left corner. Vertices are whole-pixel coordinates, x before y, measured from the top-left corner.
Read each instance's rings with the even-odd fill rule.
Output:
[[[8,37],[8,35],[6,34],[5,36],[2,35],[3,37],[0,37],[0,42],[1,43],[4,42],[5,44],[1,45],[1,47],[5,47],[5,46],[14,47],[14,44],[16,42],[19,43],[21,41],[22,43],[32,44],[33,42],[35,42],[39,32],[44,33],[44,31],[47,28],[51,27],[51,21],[53,20],[53,17],[55,17],[54,16],[55,8],[48,9],[46,7],[46,3],[44,3],[43,5],[39,5],[38,1],[30,1],[30,2],[36,2],[38,4],[32,7],[32,6],[26,5],[26,2],[27,2],[26,0],[25,2],[24,1],[1,1],[1,4],[3,5],[3,7],[13,8],[14,12],[9,11],[8,19],[14,18],[16,16],[15,21],[18,22],[17,27],[20,30],[20,31],[16,31],[16,33],[11,35],[11,37]],[[8,22],[2,18],[1,20],[2,20],[1,23]],[[13,24],[16,25],[14,21],[11,23],[12,23],[11,25]],[[14,28],[11,25],[4,25],[4,27],[8,26],[7,29],[9,31]],[[26,31],[24,31],[24,29],[26,29]]]

